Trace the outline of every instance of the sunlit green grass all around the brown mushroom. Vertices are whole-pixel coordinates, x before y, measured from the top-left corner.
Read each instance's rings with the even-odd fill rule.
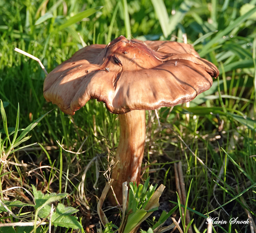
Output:
[[[86,231],[99,221],[97,198],[119,141],[117,116],[103,103],[91,100],[75,116],[64,115],[46,103],[42,95],[45,73],[36,61],[14,52],[15,47],[40,58],[50,72],[86,44],[106,44],[121,34],[181,42],[186,33],[188,43],[194,44],[200,56],[219,67],[220,76],[189,108],[161,108],[161,126],[155,112],[147,112],[142,180],[150,176],[150,184],[166,186],[160,205],[162,202],[171,210],[175,206],[172,203],[177,202],[173,163],[182,161],[186,191],[190,189],[187,210],[194,219],[195,232],[205,232],[208,216],[244,221],[249,211],[255,219],[256,160],[250,157],[256,153],[255,12],[253,0],[0,1],[0,98],[8,131],[16,127],[18,103],[19,129],[53,109],[29,132],[32,137],[19,145],[37,142],[40,146],[9,155],[5,170],[2,161],[2,190],[10,186],[32,190],[34,185],[45,194],[68,192],[63,204],[80,210],[77,216]],[[186,113],[190,114],[189,121]],[[0,132],[3,140],[4,129]],[[81,192],[78,185],[93,158]],[[37,167],[40,169],[33,170]],[[29,171],[33,172],[28,175]],[[3,200],[27,200],[22,191],[1,195]],[[23,211],[31,210],[23,207],[20,214]],[[118,219],[113,211],[106,215]],[[16,221],[4,212],[0,220]],[[246,231],[250,232],[248,224],[227,223],[213,229]]]

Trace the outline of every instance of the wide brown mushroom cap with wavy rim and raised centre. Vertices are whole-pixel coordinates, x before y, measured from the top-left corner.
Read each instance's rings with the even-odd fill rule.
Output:
[[[69,115],[91,98],[122,114],[191,101],[218,75],[190,44],[120,36],[107,46],[82,48],[57,66],[47,75],[43,94]]]

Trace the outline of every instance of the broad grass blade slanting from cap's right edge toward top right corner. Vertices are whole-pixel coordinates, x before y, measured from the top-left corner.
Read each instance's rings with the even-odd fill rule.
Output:
[[[211,39],[207,44],[205,44],[205,46],[203,47],[203,49],[201,50],[199,55],[201,57],[204,57],[206,54],[208,54],[211,46],[213,46],[215,43],[217,43],[218,40],[221,39],[223,36],[226,36],[235,27],[238,27],[241,23],[243,23],[246,19],[248,19],[254,12],[256,12],[256,7],[254,7],[250,11],[248,11],[243,16],[240,16],[239,18],[235,19],[235,21],[232,22],[227,28],[225,28],[223,31],[220,31],[219,33],[217,33],[213,39]]]

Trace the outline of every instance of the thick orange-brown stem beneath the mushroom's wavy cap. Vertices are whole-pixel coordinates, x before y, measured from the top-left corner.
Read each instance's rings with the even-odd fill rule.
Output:
[[[135,110],[119,115],[120,141],[116,150],[116,166],[112,171],[113,188],[122,203],[122,183],[140,181],[140,167],[144,154],[146,125],[145,110]],[[110,195],[110,201],[115,204]]]

